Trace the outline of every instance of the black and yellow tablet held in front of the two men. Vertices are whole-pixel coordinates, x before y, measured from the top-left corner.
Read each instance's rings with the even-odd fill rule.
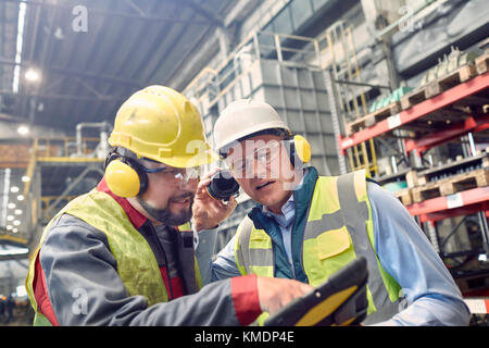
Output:
[[[331,326],[361,323],[368,307],[363,257],[348,263],[311,293],[271,315],[265,326]]]

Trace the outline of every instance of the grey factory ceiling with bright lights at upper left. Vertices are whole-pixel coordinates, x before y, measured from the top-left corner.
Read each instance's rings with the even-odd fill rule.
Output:
[[[66,132],[80,122],[112,123],[134,91],[179,78],[231,5],[236,1],[1,0],[0,115]]]

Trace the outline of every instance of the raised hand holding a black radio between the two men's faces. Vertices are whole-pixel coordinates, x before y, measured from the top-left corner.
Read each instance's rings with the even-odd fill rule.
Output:
[[[205,174],[201,178],[197,187],[197,192],[193,199],[193,207],[192,207],[193,225],[197,232],[202,229],[214,228],[222,221],[227,219],[238,204],[233,195],[227,197],[228,200],[226,202],[223,201],[222,199],[216,199],[209,194],[208,186],[211,185],[212,177],[215,174],[220,173],[221,171],[222,171],[221,169],[215,169],[210,173]],[[213,186],[215,186],[215,183]]]

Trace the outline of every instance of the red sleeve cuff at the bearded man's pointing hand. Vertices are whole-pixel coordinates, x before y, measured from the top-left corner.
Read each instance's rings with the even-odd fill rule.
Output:
[[[241,325],[251,324],[262,313],[255,274],[231,278],[231,295]]]

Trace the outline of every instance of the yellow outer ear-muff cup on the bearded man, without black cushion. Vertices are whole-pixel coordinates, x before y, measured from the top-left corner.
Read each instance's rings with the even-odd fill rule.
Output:
[[[137,196],[141,186],[138,173],[121,160],[108,164],[105,182],[113,194],[124,198]]]

